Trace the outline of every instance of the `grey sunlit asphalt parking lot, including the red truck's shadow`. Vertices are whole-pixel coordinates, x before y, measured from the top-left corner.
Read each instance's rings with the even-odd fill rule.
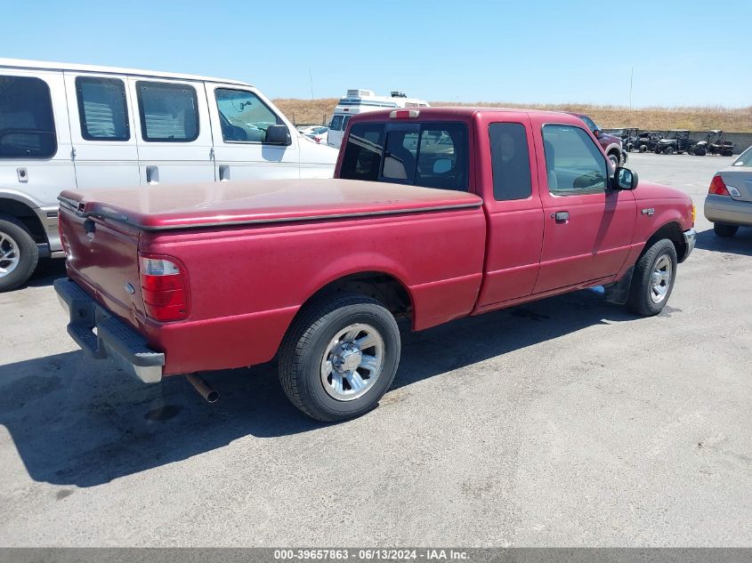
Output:
[[[381,405],[334,425],[272,365],[208,375],[208,405],[86,358],[50,265],[0,294],[0,544],[749,545],[752,229],[702,216],[730,162],[630,155],[698,206],[658,317],[585,291],[409,334]]]

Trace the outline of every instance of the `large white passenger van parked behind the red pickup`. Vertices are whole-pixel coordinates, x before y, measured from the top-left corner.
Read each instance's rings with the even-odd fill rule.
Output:
[[[62,189],[331,178],[336,157],[250,84],[0,59],[0,291],[62,257]]]

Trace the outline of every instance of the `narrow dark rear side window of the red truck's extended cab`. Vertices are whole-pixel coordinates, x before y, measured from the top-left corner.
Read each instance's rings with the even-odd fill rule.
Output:
[[[527,199],[532,194],[530,151],[525,126],[519,123],[489,125],[494,199]]]

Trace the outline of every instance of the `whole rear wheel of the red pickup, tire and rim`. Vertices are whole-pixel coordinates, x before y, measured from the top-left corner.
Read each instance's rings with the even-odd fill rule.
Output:
[[[279,355],[279,381],[293,405],[322,422],[374,408],[400,363],[392,313],[360,294],[335,294],[295,318]]]

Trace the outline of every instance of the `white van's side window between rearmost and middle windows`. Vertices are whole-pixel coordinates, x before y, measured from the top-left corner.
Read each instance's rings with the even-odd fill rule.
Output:
[[[86,141],[128,141],[125,84],[117,78],[76,77],[78,118]]]

